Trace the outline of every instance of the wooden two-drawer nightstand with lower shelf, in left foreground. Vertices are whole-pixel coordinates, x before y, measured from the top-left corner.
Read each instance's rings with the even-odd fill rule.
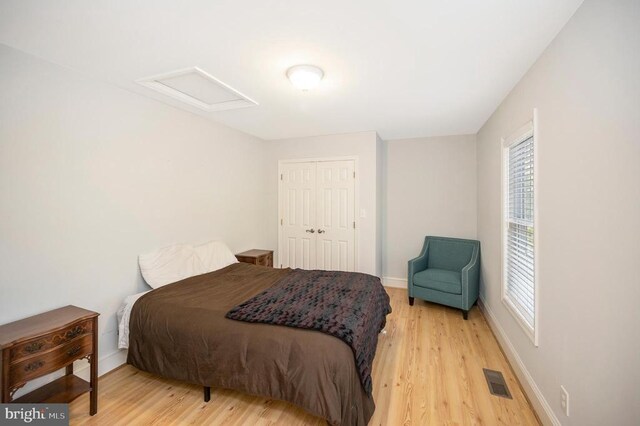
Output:
[[[98,411],[98,314],[65,306],[0,326],[2,402],[67,403],[90,394],[91,415]],[[87,358],[91,381],[73,374],[73,362]],[[66,368],[66,375],[20,398],[29,380]]]

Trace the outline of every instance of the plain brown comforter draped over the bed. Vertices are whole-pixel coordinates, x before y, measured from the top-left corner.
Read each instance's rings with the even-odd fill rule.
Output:
[[[236,263],[147,293],[131,311],[127,362],[289,401],[334,425],[366,425],[375,407],[347,344],[313,330],[225,318],[290,272]]]

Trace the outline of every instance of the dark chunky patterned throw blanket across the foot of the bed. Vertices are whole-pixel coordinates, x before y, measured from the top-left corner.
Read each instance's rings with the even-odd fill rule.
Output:
[[[293,270],[273,287],[235,306],[233,320],[321,331],[353,350],[360,381],[371,394],[378,333],[391,312],[380,279],[354,272]]]

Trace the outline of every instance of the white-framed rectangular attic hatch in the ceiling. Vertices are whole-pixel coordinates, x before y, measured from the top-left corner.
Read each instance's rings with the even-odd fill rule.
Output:
[[[154,75],[136,82],[206,112],[258,105],[253,99],[197,67]]]

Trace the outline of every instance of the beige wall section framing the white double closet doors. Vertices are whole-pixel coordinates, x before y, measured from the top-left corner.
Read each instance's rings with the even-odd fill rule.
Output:
[[[360,209],[366,212],[366,217],[359,217],[358,224],[358,270],[376,275],[380,271],[377,264],[377,244],[381,243],[377,237],[376,218],[379,206],[377,186],[377,171],[379,168],[376,158],[378,153],[378,138],[376,132],[347,133],[342,135],[315,136],[309,138],[282,139],[265,142],[265,161],[267,182],[265,229],[268,232],[268,247],[278,248],[278,161],[305,158],[327,157],[358,157],[358,171],[360,182]],[[277,253],[276,253],[277,260]]]

